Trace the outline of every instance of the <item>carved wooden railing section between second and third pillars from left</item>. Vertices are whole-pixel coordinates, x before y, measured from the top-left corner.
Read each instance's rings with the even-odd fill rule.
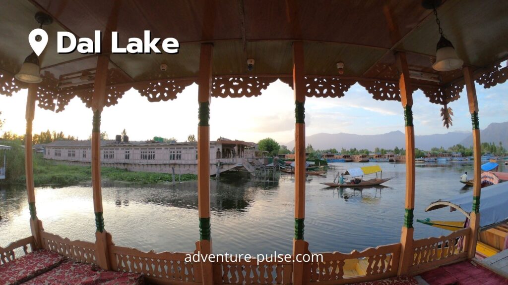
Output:
[[[155,284],[199,284],[201,283],[201,265],[186,262],[185,253],[148,253],[135,248],[109,246],[112,269],[122,272],[136,272],[145,275],[145,279]]]

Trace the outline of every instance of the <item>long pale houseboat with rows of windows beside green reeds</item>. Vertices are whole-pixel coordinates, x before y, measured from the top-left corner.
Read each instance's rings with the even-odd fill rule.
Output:
[[[197,142],[101,140],[101,165],[129,171],[197,174]],[[220,138],[210,141],[210,174],[252,167],[254,144]],[[44,158],[90,165],[90,140],[56,140],[47,144]],[[248,164],[248,165],[247,165]],[[238,170],[236,169],[236,170]]]

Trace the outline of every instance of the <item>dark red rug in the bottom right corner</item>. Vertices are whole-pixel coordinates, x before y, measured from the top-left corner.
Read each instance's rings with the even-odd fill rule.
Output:
[[[508,279],[469,261],[442,266],[420,276],[430,285],[508,285]]]

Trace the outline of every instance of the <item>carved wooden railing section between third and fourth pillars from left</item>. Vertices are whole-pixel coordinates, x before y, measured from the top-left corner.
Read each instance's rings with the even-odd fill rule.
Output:
[[[292,262],[216,262],[213,264],[214,284],[290,284]]]

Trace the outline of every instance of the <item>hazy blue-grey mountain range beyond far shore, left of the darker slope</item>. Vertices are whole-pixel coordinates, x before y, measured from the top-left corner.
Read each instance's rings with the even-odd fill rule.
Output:
[[[416,135],[415,146],[421,150],[430,150],[433,147],[443,147],[445,149],[459,144],[469,133],[449,132],[446,134]],[[393,131],[384,134],[359,135],[351,133],[317,133],[305,138],[305,144],[311,144],[314,149],[326,150],[335,148],[340,151],[341,148],[350,149],[368,149],[374,148],[394,149],[405,148],[404,133]],[[288,142],[288,149],[293,149],[295,141]],[[508,144],[506,145],[508,146]]]

